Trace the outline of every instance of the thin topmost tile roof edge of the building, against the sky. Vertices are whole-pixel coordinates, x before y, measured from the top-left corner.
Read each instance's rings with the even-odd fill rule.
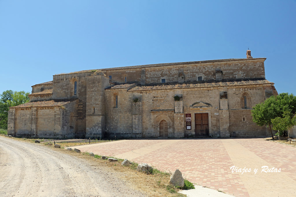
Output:
[[[266,58],[240,58],[240,59],[217,59],[217,60],[205,60],[205,61],[187,61],[187,62],[174,62],[174,63],[163,63],[163,64],[146,64],[139,66],[123,66],[115,68],[100,69],[101,71],[105,70],[118,70],[118,69],[137,69],[137,68],[148,68],[148,67],[158,67],[158,66],[174,66],[174,65],[186,65],[186,64],[203,64],[203,63],[214,63],[214,62],[227,62],[227,61],[243,61],[243,60],[256,60],[256,59],[266,59]],[[81,72],[91,72],[93,70],[83,70]]]

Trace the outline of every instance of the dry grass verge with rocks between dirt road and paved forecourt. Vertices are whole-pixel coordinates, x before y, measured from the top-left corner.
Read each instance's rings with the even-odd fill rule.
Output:
[[[34,143],[35,139],[21,139],[21,138],[10,138],[19,141],[25,141],[29,143]],[[42,139],[39,139],[42,141]],[[44,140],[43,140],[44,141]],[[41,143],[41,146],[47,146],[47,143]],[[62,143],[58,143],[62,144]],[[64,143],[63,146],[68,143]],[[73,145],[74,143],[70,143]],[[179,189],[173,187],[169,184],[170,175],[167,172],[161,172],[159,170],[154,170],[152,174],[145,174],[142,172],[136,172],[136,167],[138,164],[134,163],[130,167],[125,167],[121,165],[123,159],[118,159],[118,162],[108,162],[107,160],[100,159],[101,156],[95,155],[95,157],[89,156],[88,153],[76,153],[74,151],[67,151],[66,149],[57,149],[53,146],[47,146],[58,152],[73,155],[78,158],[86,159],[91,165],[97,166],[99,168],[104,168],[109,172],[114,172],[118,178],[126,181],[126,185],[141,191],[147,196],[162,197],[162,196],[186,196],[184,194],[178,193]]]

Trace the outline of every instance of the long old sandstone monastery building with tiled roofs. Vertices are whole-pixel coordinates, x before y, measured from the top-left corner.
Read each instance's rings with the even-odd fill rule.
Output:
[[[271,95],[266,58],[126,66],[57,74],[11,107],[8,133],[39,138],[266,136],[251,109]],[[235,132],[235,133],[234,133]]]

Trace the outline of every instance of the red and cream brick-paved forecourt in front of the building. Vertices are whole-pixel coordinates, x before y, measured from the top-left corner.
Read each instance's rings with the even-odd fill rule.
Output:
[[[76,147],[159,170],[179,169],[189,181],[233,196],[296,196],[296,147],[261,138],[132,139]],[[231,166],[251,172],[232,172]],[[281,172],[261,172],[262,166]]]

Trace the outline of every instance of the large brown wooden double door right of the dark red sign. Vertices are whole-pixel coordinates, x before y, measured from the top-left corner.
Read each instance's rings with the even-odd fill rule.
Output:
[[[195,135],[208,136],[209,135],[209,114],[196,113],[194,115],[195,122]]]

